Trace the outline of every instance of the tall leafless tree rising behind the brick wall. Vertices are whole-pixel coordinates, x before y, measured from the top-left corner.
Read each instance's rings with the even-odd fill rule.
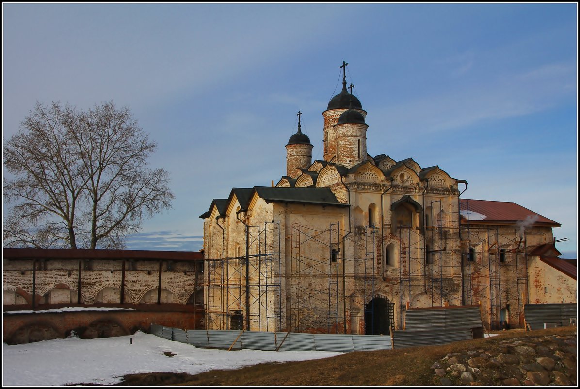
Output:
[[[4,146],[7,247],[121,248],[143,219],[171,207],[169,173],[128,107],[40,103]]]

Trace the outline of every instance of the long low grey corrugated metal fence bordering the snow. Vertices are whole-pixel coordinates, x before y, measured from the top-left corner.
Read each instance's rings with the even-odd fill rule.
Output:
[[[391,350],[390,336],[349,334],[306,334],[285,332],[259,332],[228,330],[182,330],[152,324],[151,333],[169,340],[193,344],[195,347],[212,347],[240,350],[317,350],[317,351],[362,351]],[[234,343],[235,342],[235,343]]]

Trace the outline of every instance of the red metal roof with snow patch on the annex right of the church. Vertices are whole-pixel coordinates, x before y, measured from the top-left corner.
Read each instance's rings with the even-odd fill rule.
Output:
[[[519,221],[534,220],[535,225],[559,227],[560,224],[551,219],[543,217],[538,213],[528,210],[510,201],[490,201],[490,200],[459,200],[459,210],[463,219],[472,223],[477,222],[499,222],[517,223]],[[469,218],[467,212],[469,211]]]

